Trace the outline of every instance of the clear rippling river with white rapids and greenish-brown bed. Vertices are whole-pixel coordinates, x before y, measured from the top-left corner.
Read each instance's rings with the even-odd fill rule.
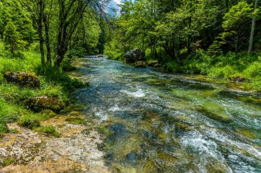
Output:
[[[261,172],[261,95],[106,58],[76,66],[113,172]]]

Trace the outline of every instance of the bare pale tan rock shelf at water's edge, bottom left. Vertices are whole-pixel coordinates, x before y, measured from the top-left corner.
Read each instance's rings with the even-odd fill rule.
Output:
[[[8,124],[13,133],[0,139],[0,172],[109,172],[102,137],[93,122],[72,111],[57,115],[42,126],[54,126],[60,137]]]

